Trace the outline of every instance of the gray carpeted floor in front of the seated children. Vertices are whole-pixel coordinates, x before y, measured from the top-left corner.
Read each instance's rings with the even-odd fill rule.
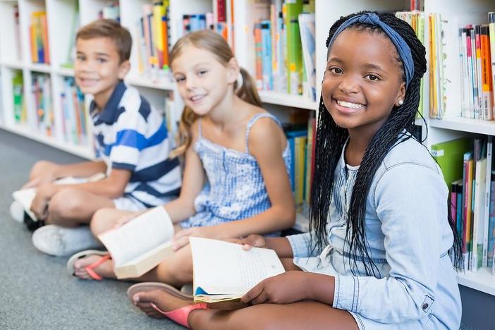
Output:
[[[135,308],[126,296],[130,283],[75,279],[66,271],[66,257],[35,250],[8,206],[39,159],[80,161],[0,130],[0,329],[183,329]]]

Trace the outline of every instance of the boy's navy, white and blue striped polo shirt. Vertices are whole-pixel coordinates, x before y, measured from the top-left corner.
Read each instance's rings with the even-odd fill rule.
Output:
[[[94,149],[112,169],[132,172],[124,197],[132,197],[146,207],[154,207],[176,197],[181,188],[177,158],[169,158],[173,139],[158,111],[133,87],[116,85],[103,111],[94,102],[90,107]]]

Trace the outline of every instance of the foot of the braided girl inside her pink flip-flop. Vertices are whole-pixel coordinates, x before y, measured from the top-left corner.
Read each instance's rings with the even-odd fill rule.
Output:
[[[133,296],[133,303],[149,317],[156,317],[157,319],[165,317],[161,312],[171,312],[187,305],[194,305],[193,300],[177,298],[163,290],[138,292]],[[161,312],[154,307],[157,307]]]

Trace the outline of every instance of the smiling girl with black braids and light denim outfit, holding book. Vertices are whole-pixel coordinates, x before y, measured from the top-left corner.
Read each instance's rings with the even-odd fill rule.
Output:
[[[410,133],[424,47],[407,23],[376,12],[338,20],[326,46],[310,233],[238,242],[274,249],[286,273],[257,284],[234,311],[135,293],[147,314],[193,329],[459,328],[448,190]]]

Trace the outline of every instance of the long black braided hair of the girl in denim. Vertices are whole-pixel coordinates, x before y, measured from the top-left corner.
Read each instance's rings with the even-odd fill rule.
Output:
[[[329,37],[326,39],[326,47],[328,47],[331,37],[342,23],[353,16],[369,13],[362,11],[354,13],[350,16],[341,17],[331,26]],[[417,39],[412,27],[403,20],[396,18],[392,13],[377,13],[380,20],[398,32],[405,40],[411,50],[412,60],[414,61],[414,73],[412,80],[405,92],[405,99],[401,106],[393,106],[391,114],[386,123],[379,128],[377,133],[372,138],[365,154],[362,157],[360,168],[357,171],[353,194],[350,200],[348,211],[348,222],[346,232],[346,244],[348,244],[350,255],[353,255],[353,265],[351,271],[355,274],[357,269],[357,260],[363,262],[367,276],[377,276],[380,274],[377,265],[374,264],[368,252],[368,244],[365,236],[365,215],[366,215],[366,200],[369,193],[369,188],[372,183],[373,176],[384,160],[390,149],[397,142],[405,141],[410,138],[410,135],[404,134],[404,130],[412,132],[417,108],[420,102],[420,80],[426,72],[427,62],[425,58],[426,51]],[[363,30],[371,33],[385,35],[385,32],[376,25],[366,23],[354,23],[350,25],[351,29]],[[396,55],[398,65],[403,71],[403,64]],[[405,81],[405,73],[403,74]],[[316,154],[314,155],[314,178],[311,189],[310,202],[310,232],[312,236],[312,247],[314,250],[322,250],[327,244],[326,221],[329,212],[331,196],[333,196],[334,173],[338,159],[341,157],[343,145],[348,138],[348,130],[336,125],[334,119],[327,111],[323,98],[319,101],[319,116],[316,133]],[[446,203],[446,207],[448,207]],[[454,263],[456,267],[462,264],[460,254],[460,236],[456,231],[450,212],[447,212],[449,217],[449,225],[454,233]]]

